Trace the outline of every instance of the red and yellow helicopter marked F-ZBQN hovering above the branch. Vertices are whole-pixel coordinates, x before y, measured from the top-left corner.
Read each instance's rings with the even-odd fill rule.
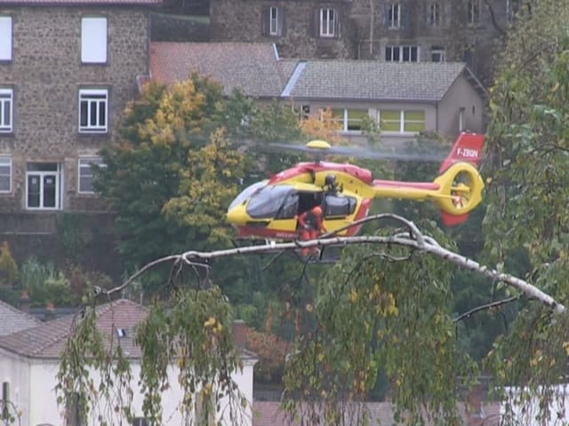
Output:
[[[370,170],[353,164],[322,162],[325,154],[349,153],[313,140],[304,150],[317,153],[314,162],[248,186],[229,205],[228,222],[236,226],[238,238],[292,241],[299,236],[298,216],[318,205],[327,232],[352,236],[361,226],[349,225],[367,216],[374,198],[392,198],[434,201],[443,224],[458,225],[482,201],[484,182],[477,165],[483,145],[484,135],[463,132],[432,182],[403,182],[375,179]]]

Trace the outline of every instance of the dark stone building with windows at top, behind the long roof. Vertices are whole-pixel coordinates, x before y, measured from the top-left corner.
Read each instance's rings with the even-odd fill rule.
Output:
[[[284,58],[465,61],[483,81],[518,0],[210,0],[212,41]]]

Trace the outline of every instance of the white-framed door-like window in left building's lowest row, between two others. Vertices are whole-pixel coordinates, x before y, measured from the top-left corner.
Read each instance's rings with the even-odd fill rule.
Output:
[[[61,166],[54,162],[30,162],[26,170],[26,208],[61,208]]]

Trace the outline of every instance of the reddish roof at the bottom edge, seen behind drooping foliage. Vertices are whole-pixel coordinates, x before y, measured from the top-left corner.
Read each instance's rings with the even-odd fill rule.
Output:
[[[252,406],[252,426],[285,426],[291,423],[287,422],[285,414],[279,411],[279,402],[274,401],[254,401]],[[354,404],[348,407],[344,413],[346,424],[357,426],[357,410],[359,406]],[[393,418],[393,405],[390,402],[367,402],[363,407],[369,415],[369,424],[378,426],[391,426],[396,423]],[[463,413],[463,409],[461,410]],[[462,414],[464,416],[464,413]],[[466,417],[466,416],[465,416]],[[353,419],[350,421],[350,419]],[[484,426],[498,426],[500,424],[500,404],[485,404],[483,413],[477,417],[476,424],[484,424]],[[293,422],[292,425],[299,425],[299,422]],[[317,426],[318,423],[314,423]],[[325,424],[324,422],[322,424]],[[428,425],[431,423],[427,423]]]

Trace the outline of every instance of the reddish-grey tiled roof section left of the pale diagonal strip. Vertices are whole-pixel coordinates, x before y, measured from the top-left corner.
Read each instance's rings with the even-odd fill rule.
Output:
[[[272,43],[150,43],[153,80],[183,81],[196,70],[222,83],[226,94],[240,88],[249,96],[273,98],[284,87]]]

